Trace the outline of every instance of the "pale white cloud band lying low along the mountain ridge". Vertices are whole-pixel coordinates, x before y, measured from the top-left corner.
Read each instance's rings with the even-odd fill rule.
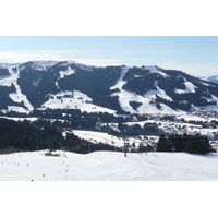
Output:
[[[105,65],[121,65],[121,64],[133,64],[126,58],[98,58],[98,50],[38,50],[38,51],[0,51],[0,62],[9,63],[22,63],[33,60],[74,60],[80,63],[105,66]],[[96,58],[88,58],[89,55],[98,55]],[[83,58],[84,57],[84,58]],[[94,57],[94,56],[93,56]],[[133,62],[137,62],[136,60]],[[150,61],[143,61],[150,62]],[[179,70],[187,74],[199,76],[199,75],[218,75],[218,65],[216,63],[201,63],[201,64],[182,64],[178,62],[162,62],[154,63],[160,68],[168,70]],[[134,64],[138,65],[138,64]],[[142,65],[142,64],[140,64]]]

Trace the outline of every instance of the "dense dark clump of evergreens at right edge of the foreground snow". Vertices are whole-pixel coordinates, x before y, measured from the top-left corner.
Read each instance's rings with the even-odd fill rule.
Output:
[[[209,144],[206,136],[199,134],[183,135],[171,134],[159,136],[157,143],[157,152],[185,152],[190,154],[208,154],[215,153],[216,150]]]

